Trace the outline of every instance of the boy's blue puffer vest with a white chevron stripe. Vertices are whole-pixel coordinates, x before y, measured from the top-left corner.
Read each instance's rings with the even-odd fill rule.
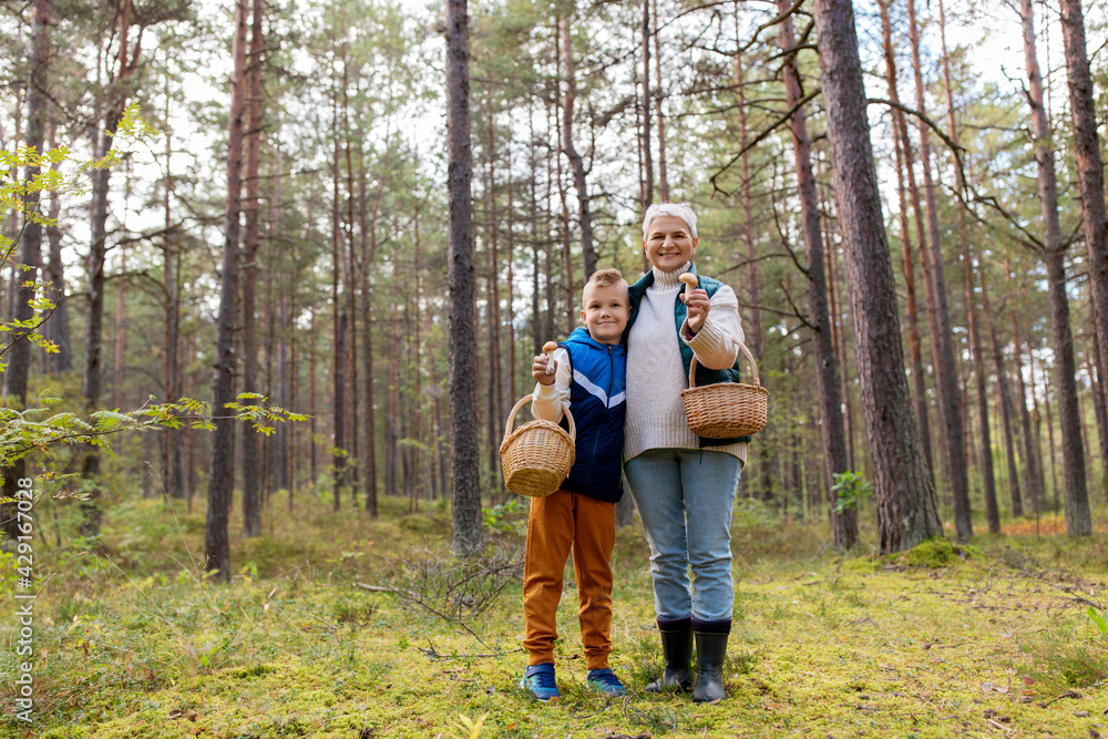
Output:
[[[616,503],[623,497],[627,349],[595,341],[584,328],[558,346],[570,352],[570,412],[577,427],[576,459],[562,487]],[[568,428],[565,419],[562,425]]]

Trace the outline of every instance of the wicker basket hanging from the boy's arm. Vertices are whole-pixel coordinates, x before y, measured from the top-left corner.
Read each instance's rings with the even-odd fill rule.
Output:
[[[504,470],[504,486],[513,493],[545,497],[556,491],[573,468],[577,428],[570,407],[562,403],[562,412],[570,420],[570,432],[550,421],[530,421],[515,431],[515,414],[531,400],[525,396],[515,403],[507,417],[504,441],[500,445],[500,463]]]

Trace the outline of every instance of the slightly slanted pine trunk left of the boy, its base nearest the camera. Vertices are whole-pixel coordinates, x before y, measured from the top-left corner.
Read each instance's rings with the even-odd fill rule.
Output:
[[[234,72],[230,91],[230,131],[227,140],[227,202],[224,225],[223,275],[216,321],[215,382],[212,411],[216,417],[212,437],[212,472],[204,545],[206,569],[230,581],[230,545],[227,517],[235,484],[235,420],[225,406],[235,399],[235,314],[238,297],[239,215],[243,197],[243,138],[246,109],[246,0],[235,8]]]

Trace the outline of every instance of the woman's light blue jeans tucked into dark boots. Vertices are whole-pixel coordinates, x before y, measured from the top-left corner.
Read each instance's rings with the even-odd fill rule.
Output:
[[[624,471],[650,544],[658,618],[730,618],[731,507],[739,460],[708,450],[652,449],[628,461]]]

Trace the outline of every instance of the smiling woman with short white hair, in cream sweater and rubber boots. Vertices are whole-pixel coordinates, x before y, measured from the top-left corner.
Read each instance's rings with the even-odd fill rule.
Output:
[[[730,525],[748,437],[705,439],[689,430],[680,391],[696,356],[697,384],[738,381],[742,340],[735,291],[696,274],[699,239],[688,205],[656,204],[643,218],[643,248],[654,268],[630,286],[624,461],[632,497],[650,544],[654,605],[666,667],[647,686],[688,690],[694,637],[697,702],[718,700],[731,629]],[[691,577],[689,572],[691,569]]]

